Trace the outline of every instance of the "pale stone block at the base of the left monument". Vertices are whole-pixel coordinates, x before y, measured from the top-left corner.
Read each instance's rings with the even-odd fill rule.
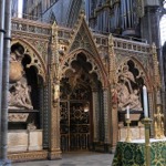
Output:
[[[14,129],[8,132],[8,152],[42,151],[42,129]]]

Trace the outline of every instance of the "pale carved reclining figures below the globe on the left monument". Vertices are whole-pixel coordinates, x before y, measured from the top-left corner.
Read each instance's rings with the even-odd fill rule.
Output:
[[[9,108],[33,108],[30,98],[31,89],[25,82],[18,81],[11,89],[13,91],[9,92]]]

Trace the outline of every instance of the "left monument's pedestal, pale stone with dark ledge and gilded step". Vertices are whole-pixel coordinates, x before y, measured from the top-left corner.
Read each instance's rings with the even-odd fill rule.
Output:
[[[12,162],[46,159],[43,131],[37,129],[39,111],[9,110],[8,158]]]

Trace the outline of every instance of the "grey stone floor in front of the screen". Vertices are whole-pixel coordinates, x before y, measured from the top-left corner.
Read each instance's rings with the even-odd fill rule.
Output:
[[[112,160],[112,154],[84,152],[63,154],[58,160],[13,163],[12,166],[111,166]]]

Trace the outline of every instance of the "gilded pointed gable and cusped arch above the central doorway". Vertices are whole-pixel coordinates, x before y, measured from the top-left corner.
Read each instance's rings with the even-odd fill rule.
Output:
[[[101,54],[98,54],[98,50],[96,48],[97,44],[94,42],[94,40],[95,38],[92,35],[85,22],[84,14],[81,13],[77,24],[75,24],[74,29],[72,30],[70,45],[65,48],[63,44],[59,44],[59,46],[62,46],[59,49],[61,49],[61,52],[63,52],[63,59],[60,58],[62,68],[60,70],[61,76],[68,69],[72,69],[71,63],[76,60],[79,53],[83,52],[86,55],[86,61],[92,64],[92,70],[90,73],[97,73],[98,80],[101,80],[103,83],[106,82],[106,79],[103,80],[101,77],[103,74],[106,75],[104,65],[106,65],[107,62],[105,61],[105,64],[102,63],[103,61],[101,59]],[[102,70],[100,70],[101,68]]]

